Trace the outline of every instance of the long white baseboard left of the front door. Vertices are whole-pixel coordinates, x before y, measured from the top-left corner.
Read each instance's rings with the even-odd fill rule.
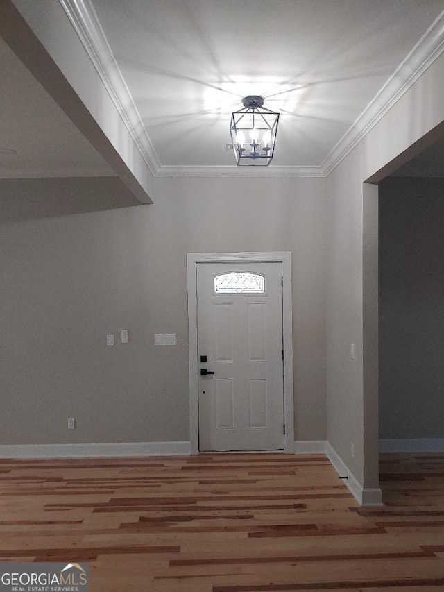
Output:
[[[87,458],[189,455],[189,442],[0,444],[0,458]]]

